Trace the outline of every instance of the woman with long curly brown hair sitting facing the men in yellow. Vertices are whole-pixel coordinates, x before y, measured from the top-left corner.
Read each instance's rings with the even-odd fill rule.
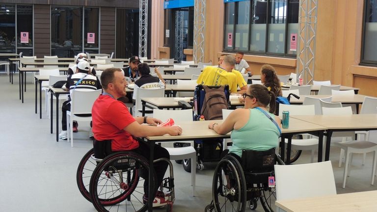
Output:
[[[275,94],[275,96],[282,96],[280,80],[277,77],[276,71],[272,67],[272,65],[262,65],[261,82],[269,89],[269,91],[272,91]]]

